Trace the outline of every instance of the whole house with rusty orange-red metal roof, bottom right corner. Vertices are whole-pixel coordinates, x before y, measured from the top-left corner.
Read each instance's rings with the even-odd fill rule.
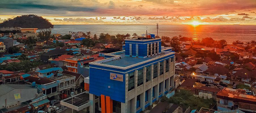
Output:
[[[217,93],[218,111],[238,109],[243,112],[256,112],[256,96],[245,94],[242,89],[224,88]]]

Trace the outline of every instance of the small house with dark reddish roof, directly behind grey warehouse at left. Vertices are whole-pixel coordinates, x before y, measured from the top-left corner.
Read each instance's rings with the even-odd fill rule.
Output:
[[[20,73],[3,76],[2,77],[3,84],[20,84],[24,82],[24,79]]]

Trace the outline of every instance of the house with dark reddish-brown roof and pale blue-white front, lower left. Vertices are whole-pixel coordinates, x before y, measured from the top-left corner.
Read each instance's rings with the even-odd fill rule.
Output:
[[[59,99],[57,86],[58,83],[56,81],[38,77],[38,76],[27,76],[24,77],[25,82],[28,84],[35,84],[36,88],[38,88],[44,95],[48,97],[48,99]]]

